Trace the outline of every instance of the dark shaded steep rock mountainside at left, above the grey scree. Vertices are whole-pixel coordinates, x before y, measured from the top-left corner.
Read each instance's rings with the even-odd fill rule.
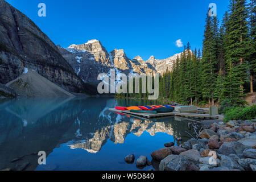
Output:
[[[34,69],[69,92],[91,93],[55,44],[26,15],[0,0],[0,83]]]

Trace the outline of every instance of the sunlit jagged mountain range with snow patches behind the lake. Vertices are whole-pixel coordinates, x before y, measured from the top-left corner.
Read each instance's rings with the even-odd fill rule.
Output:
[[[77,75],[84,81],[97,82],[100,73],[110,73],[110,69],[115,69],[115,73],[138,73],[148,74],[159,73],[172,70],[172,65],[181,53],[167,59],[158,60],[151,56],[144,61],[141,56],[130,59],[123,49],[106,51],[99,40],[89,40],[85,44],[72,44],[68,48],[57,46],[61,55],[71,64]],[[192,51],[191,51],[192,53]]]

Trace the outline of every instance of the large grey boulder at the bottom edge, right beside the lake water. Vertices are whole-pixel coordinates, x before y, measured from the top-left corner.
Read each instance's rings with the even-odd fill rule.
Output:
[[[159,165],[160,171],[185,171],[189,160],[183,155],[169,155]]]

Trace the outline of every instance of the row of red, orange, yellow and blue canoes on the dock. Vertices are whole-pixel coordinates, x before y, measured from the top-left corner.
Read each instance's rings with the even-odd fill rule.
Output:
[[[133,113],[170,113],[174,111],[175,105],[150,105],[150,106],[131,106],[131,107],[115,107],[117,110],[129,110]]]

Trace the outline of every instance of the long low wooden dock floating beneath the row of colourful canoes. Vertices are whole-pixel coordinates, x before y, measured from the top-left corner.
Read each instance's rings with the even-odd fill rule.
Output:
[[[122,113],[122,114],[128,114],[128,115],[134,115],[135,117],[140,118],[162,118],[162,117],[171,117],[171,116],[179,116],[179,117],[185,117],[185,118],[199,118],[199,119],[223,119],[223,115],[210,115],[210,114],[199,114],[199,113],[177,113],[176,111],[173,111],[171,113],[157,113],[157,114],[151,114],[151,113],[133,113],[129,110],[117,110],[114,108],[110,108],[110,111]]]

